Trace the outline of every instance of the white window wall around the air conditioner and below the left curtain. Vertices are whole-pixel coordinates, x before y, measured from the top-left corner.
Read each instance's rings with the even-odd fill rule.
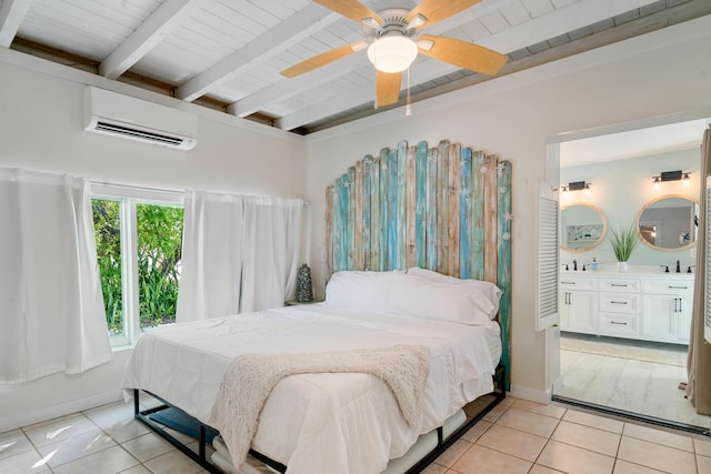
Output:
[[[84,83],[199,114],[198,145],[181,152],[82,131]],[[0,49],[0,167],[158,189],[303,198],[303,140],[292,133]],[[114,352],[112,362],[78,376],[0,385],[0,432],[118,400],[129,354]]]

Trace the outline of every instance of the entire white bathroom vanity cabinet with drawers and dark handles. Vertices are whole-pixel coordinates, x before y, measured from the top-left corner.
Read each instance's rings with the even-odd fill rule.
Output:
[[[691,274],[564,272],[559,289],[562,331],[689,343]]]

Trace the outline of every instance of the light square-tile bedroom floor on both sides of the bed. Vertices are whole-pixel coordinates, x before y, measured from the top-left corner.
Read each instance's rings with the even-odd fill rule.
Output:
[[[204,472],[122,402],[0,434],[0,473]],[[711,441],[508,397],[424,474],[660,472],[711,473]]]

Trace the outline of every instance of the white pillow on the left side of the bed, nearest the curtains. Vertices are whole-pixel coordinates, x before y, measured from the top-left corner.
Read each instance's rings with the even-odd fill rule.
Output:
[[[388,309],[388,293],[395,273],[403,272],[336,272],[326,285],[324,304],[384,313]]]

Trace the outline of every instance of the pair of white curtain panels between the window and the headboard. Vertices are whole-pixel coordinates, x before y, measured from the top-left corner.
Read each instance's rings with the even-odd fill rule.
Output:
[[[283,305],[296,289],[301,200],[186,193],[176,321]]]

